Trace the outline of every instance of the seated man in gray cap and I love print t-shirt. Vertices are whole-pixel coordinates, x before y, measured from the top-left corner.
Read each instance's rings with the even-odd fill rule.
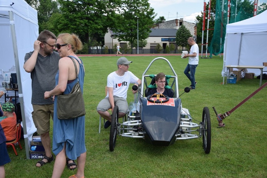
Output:
[[[130,83],[139,85],[141,80],[138,79],[132,72],[128,71],[130,63],[127,58],[121,57],[117,61],[118,70],[112,72],[107,76],[107,96],[102,99],[97,105],[97,112],[101,117],[107,121],[104,128],[107,129],[111,124],[111,115],[107,111],[112,109],[115,105],[119,107],[119,118],[125,116],[128,109],[127,90]],[[137,91],[133,91],[136,93]]]

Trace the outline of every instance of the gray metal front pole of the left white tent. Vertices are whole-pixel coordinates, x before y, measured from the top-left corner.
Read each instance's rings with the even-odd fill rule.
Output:
[[[17,38],[15,32],[15,24],[14,24],[14,17],[13,11],[8,11],[9,13],[9,22],[10,22],[10,31],[13,41],[13,51],[14,51],[14,58],[15,58],[15,65],[16,65],[16,72],[17,72],[17,81],[18,81],[18,96],[20,100],[20,107],[21,107],[21,116],[22,116],[22,123],[23,123],[23,131],[24,131],[24,142],[25,142],[25,150],[26,150],[26,158],[30,159],[29,157],[29,139],[27,133],[27,125],[25,119],[25,110],[24,110],[24,100],[23,100],[23,92],[22,92],[22,84],[20,79],[20,67],[19,67],[19,60],[18,60],[18,47],[17,47]]]

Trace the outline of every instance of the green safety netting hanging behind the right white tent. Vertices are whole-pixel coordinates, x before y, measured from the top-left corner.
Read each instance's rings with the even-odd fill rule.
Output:
[[[258,0],[258,13],[260,14],[266,7],[267,0]],[[218,55],[223,53],[224,38],[226,32],[226,25],[228,23],[228,1],[216,0],[216,14],[213,37],[208,50],[210,58],[212,54]],[[231,0],[229,23],[239,22],[253,17],[254,14],[254,0]]]

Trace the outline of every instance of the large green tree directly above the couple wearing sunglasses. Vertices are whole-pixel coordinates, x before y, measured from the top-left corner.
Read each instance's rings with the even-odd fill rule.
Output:
[[[116,10],[120,1],[83,0],[65,1],[58,0],[62,17],[60,24],[53,24],[60,33],[76,33],[88,48],[92,46],[91,40],[104,43],[107,28],[116,23],[118,14]]]

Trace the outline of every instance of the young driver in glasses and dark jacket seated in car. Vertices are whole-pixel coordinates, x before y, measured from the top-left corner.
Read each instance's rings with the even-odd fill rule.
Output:
[[[147,96],[155,93],[161,93],[163,95],[169,96],[170,98],[173,98],[174,93],[170,89],[164,88],[166,83],[166,78],[164,73],[160,72],[159,74],[156,75],[155,83],[157,85],[157,88],[149,90]]]

